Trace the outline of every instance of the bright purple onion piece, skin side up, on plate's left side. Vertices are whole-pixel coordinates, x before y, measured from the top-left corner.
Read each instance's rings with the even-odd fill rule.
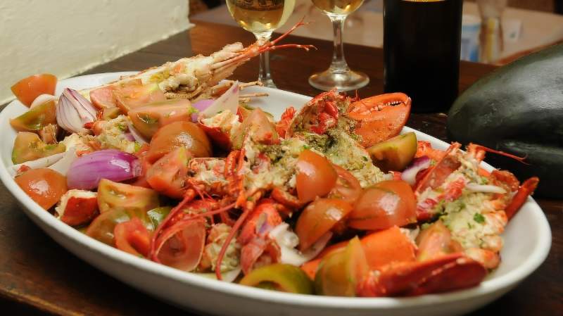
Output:
[[[101,179],[120,182],[133,179],[141,173],[137,157],[115,149],[94,151],[77,158],[66,175],[68,189],[91,190]]]

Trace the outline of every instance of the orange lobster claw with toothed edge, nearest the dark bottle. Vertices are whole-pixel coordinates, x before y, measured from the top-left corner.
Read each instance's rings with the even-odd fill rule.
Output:
[[[348,116],[358,122],[355,133],[362,137],[360,144],[367,148],[397,136],[407,123],[410,104],[410,97],[399,92],[372,96],[350,104]]]

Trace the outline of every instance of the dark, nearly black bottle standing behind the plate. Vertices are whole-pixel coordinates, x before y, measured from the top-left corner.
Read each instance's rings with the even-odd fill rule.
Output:
[[[462,0],[385,0],[385,91],[404,92],[412,111],[445,111],[457,97]]]

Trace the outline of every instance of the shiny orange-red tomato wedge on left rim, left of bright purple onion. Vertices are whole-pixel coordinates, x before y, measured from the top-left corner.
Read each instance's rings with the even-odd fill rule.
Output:
[[[15,177],[15,183],[42,208],[49,210],[68,191],[66,177],[49,168],[30,169]]]

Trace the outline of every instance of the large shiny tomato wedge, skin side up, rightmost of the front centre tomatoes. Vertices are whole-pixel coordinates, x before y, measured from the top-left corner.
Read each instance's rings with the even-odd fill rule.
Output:
[[[355,229],[386,229],[416,222],[415,194],[404,181],[384,181],[362,192],[350,213],[348,226]]]

